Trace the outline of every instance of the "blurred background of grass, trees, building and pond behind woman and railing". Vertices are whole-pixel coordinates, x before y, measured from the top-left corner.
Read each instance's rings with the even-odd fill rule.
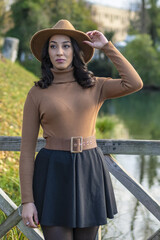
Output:
[[[97,139],[160,139],[160,2],[157,0],[0,0],[0,135],[21,136],[23,105],[41,75],[29,48],[31,36],[68,19],[78,30],[98,29],[141,76],[137,93],[107,100],[96,123]],[[96,50],[89,70],[117,78],[113,63]],[[42,137],[40,129],[39,137]],[[20,204],[19,152],[0,152],[0,187]],[[115,155],[158,201],[159,156]],[[159,223],[114,177],[119,213],[102,226],[102,240],[146,240]],[[6,218],[0,212],[0,223]],[[26,239],[14,227],[4,239]]]

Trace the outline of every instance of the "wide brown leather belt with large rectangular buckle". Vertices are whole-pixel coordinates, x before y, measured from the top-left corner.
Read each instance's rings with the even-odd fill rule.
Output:
[[[83,138],[82,136],[71,137],[68,139],[48,137],[46,138],[45,148],[55,150],[71,151],[73,153],[82,152],[86,149],[97,147],[95,136]]]

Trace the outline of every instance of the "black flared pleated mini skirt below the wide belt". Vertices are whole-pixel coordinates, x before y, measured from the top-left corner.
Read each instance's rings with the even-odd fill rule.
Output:
[[[33,195],[41,225],[104,225],[117,213],[107,164],[98,146],[80,153],[42,148],[35,158]]]

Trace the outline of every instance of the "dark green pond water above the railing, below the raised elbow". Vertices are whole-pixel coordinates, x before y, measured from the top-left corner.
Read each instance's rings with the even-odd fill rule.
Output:
[[[131,138],[160,139],[160,94],[139,91],[137,93],[107,100],[100,112],[116,114],[129,130]]]

